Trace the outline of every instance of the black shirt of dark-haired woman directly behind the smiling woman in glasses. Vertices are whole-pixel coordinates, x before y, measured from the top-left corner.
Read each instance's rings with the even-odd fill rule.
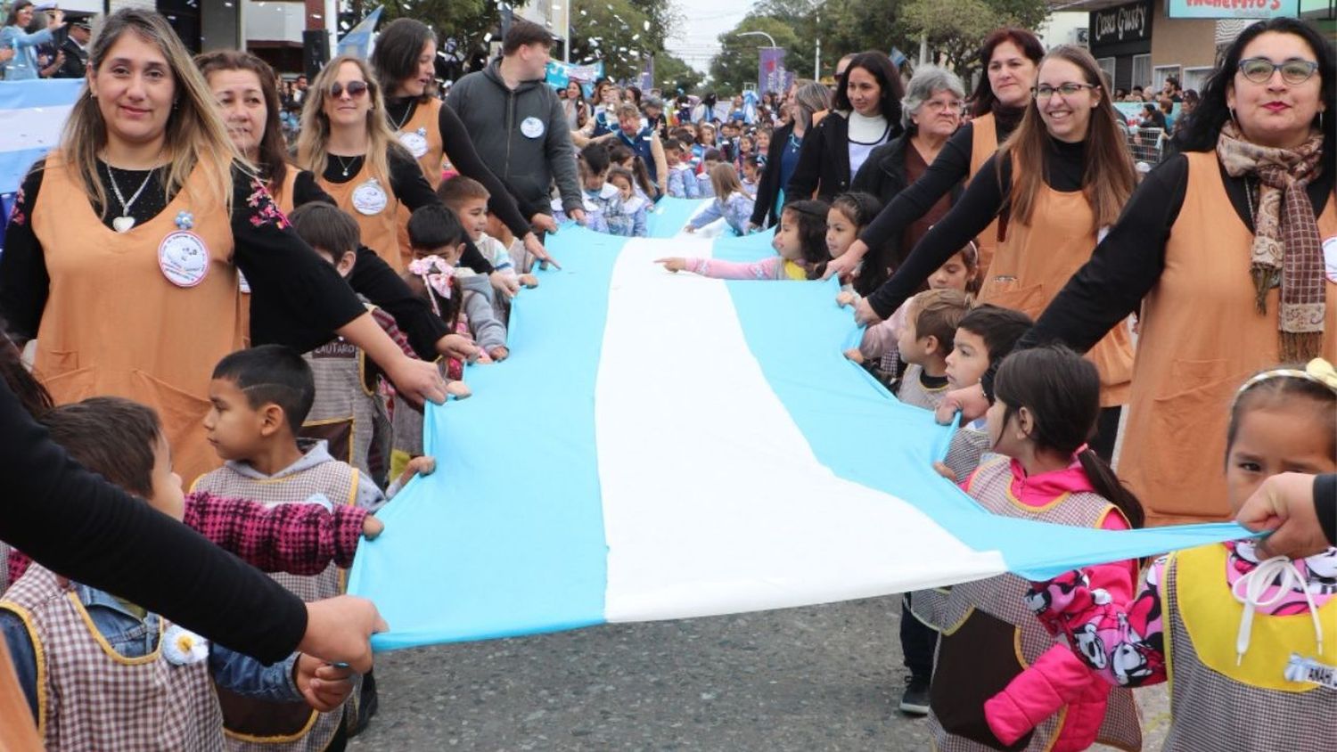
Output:
[[[997,143],[1007,140],[1020,123],[1020,114],[997,111],[993,114]],[[928,214],[933,204],[971,176],[975,155],[975,126],[965,123],[943,144],[943,151],[928,166],[924,175],[882,207],[877,218],[868,223],[858,239],[869,248],[881,248],[889,240],[904,235],[912,222]]]

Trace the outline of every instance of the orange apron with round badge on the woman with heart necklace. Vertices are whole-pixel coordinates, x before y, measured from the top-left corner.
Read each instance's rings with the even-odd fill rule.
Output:
[[[32,210],[51,275],[33,371],[59,405],[115,395],[156,410],[189,484],[222,463],[205,438],[209,381],[218,361],[242,347],[231,216],[215,195],[219,180],[195,167],[163,211],[116,232],[70,172],[52,152]],[[175,220],[187,210],[194,228],[183,236]],[[198,271],[172,266],[198,258],[182,248],[205,251]],[[172,268],[178,283],[164,271]]]

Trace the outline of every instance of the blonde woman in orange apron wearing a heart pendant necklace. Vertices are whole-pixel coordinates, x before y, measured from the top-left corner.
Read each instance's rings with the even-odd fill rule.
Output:
[[[52,397],[154,407],[183,478],[221,463],[203,417],[214,365],[242,346],[238,268],[271,322],[257,342],[305,351],[333,330],[405,390],[444,398],[440,374],[400,351],[235,159],[167,21],[118,12],[59,148],[24,180],[0,258],[0,310],[36,337]]]

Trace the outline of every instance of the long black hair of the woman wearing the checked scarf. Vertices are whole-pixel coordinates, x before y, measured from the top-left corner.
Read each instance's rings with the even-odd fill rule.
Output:
[[[1334,110],[1334,91],[1337,91],[1337,57],[1333,55],[1332,44],[1318,33],[1308,21],[1298,19],[1275,17],[1258,21],[1246,28],[1234,43],[1226,48],[1221,64],[1207,77],[1207,84],[1202,87],[1202,99],[1193,112],[1185,116],[1183,128],[1175,139],[1183,151],[1213,151],[1217,148],[1217,138],[1221,127],[1231,118],[1230,107],[1226,106],[1226,89],[1234,84],[1235,71],[1239,69],[1239,59],[1245,47],[1265,32],[1292,33],[1305,40],[1305,44],[1314,51],[1314,61],[1318,63],[1318,77],[1321,88],[1318,100],[1328,104],[1328,111]],[[1330,160],[1337,147],[1337,112],[1318,116],[1318,126],[1324,134],[1324,154]]]

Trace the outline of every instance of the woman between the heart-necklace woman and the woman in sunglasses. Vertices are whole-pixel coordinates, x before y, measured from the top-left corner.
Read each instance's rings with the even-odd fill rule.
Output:
[[[269,63],[250,52],[223,49],[195,56],[195,64],[222,108],[233,146],[257,167],[278,210],[287,216],[309,202],[333,204],[334,199],[316,184],[314,175],[287,163],[287,146],[278,120],[278,88]],[[354,293],[394,317],[424,361],[433,361],[437,355],[469,358],[476,351],[366,246],[358,247],[357,263],[348,283]],[[250,291],[245,285],[242,299],[242,314],[249,319]],[[242,331],[250,331],[249,322]]]

